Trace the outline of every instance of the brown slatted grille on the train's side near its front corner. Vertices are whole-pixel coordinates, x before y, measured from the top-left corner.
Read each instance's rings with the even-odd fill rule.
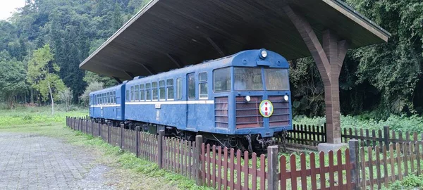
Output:
[[[216,127],[228,128],[228,97],[214,98],[214,121]]]

